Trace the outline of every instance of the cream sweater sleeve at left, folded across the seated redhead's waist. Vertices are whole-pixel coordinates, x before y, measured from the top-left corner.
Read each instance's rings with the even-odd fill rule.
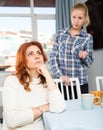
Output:
[[[3,115],[6,124],[10,128],[23,126],[33,121],[33,112],[31,108],[20,110],[18,109],[17,95],[17,79],[13,76],[8,77],[4,82],[2,100],[3,100]]]

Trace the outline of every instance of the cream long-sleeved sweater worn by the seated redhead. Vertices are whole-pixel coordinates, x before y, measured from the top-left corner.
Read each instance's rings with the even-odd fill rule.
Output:
[[[18,78],[6,78],[3,99],[3,129],[2,130],[45,130],[42,117],[34,121],[32,107],[37,107],[49,102],[51,112],[62,112],[66,103],[59,91],[48,91],[39,78],[34,78],[30,84],[31,92],[24,90]]]

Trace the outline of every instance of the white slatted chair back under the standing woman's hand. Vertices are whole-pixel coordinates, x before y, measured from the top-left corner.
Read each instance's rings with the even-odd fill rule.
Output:
[[[80,90],[80,83],[79,83],[78,78],[70,78],[70,86],[71,87],[66,86],[62,82],[61,79],[54,79],[54,82],[59,87],[59,89],[60,89],[60,91],[61,91],[64,98],[65,98],[65,95],[66,95],[66,100],[70,100],[70,99],[74,100],[74,99],[76,99],[74,87],[76,88],[77,98],[81,99],[81,90]],[[70,98],[70,96],[71,96],[71,98]]]

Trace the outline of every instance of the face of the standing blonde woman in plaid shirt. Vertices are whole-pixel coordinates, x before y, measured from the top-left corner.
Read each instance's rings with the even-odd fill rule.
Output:
[[[74,9],[71,13],[71,23],[74,29],[80,30],[85,23],[86,17],[84,11]]]

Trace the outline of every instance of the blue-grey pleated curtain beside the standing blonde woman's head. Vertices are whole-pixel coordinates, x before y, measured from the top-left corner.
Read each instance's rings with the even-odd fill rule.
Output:
[[[70,11],[74,0],[56,0],[56,32],[71,24]]]

